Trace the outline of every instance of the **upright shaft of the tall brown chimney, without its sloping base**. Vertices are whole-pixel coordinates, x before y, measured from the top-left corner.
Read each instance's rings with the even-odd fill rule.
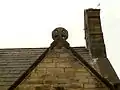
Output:
[[[100,21],[100,9],[84,11],[86,45],[93,58],[107,57]]]

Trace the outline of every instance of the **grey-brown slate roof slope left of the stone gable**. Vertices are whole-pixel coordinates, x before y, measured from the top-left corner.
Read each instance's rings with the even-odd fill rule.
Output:
[[[0,87],[11,86],[46,48],[0,49]]]

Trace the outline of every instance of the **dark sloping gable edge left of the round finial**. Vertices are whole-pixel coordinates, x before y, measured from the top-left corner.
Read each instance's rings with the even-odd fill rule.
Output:
[[[26,70],[25,73],[23,73],[20,78],[18,78],[8,90],[14,90],[23,80],[24,78],[43,60],[43,58],[46,56],[48,53],[49,48],[45,50],[45,52]]]

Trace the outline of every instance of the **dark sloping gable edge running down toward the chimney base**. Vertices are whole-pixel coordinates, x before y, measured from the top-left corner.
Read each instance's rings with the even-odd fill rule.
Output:
[[[72,47],[70,47],[73,55],[76,56],[95,76],[98,77],[110,90],[115,90],[114,85],[109,82],[106,78],[100,75],[88,62],[86,62]]]

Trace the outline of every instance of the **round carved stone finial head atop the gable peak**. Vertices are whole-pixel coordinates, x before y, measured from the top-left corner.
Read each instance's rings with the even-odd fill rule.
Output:
[[[53,40],[63,39],[66,40],[68,38],[68,31],[63,27],[58,27],[52,31]]]

